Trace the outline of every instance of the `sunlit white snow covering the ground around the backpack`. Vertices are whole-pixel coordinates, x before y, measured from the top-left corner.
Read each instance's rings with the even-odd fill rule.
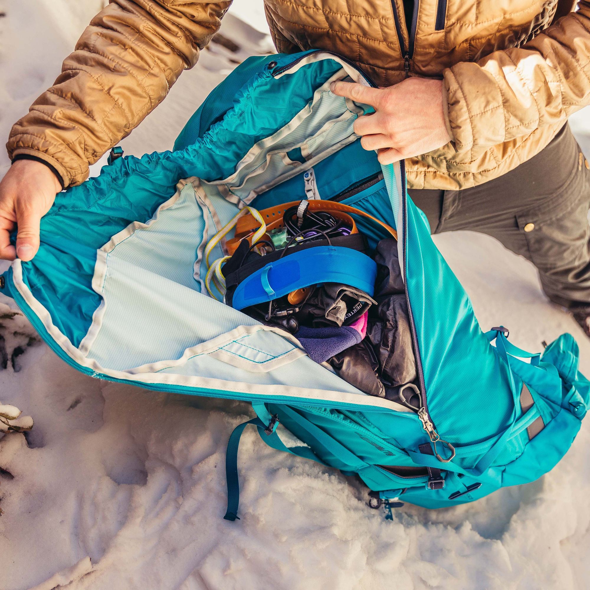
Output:
[[[0,136],[50,86],[102,4],[12,0],[0,8]],[[222,33],[240,50],[217,43],[204,51],[122,142],[126,153],[171,148],[236,60],[270,50],[263,23],[261,0],[237,2]],[[588,119],[586,110],[573,124],[590,156]],[[0,152],[0,175],[8,164]],[[501,322],[531,350],[569,331],[590,373],[590,342],[548,303],[529,263],[483,235],[436,241],[483,326]],[[588,587],[588,420],[541,480],[453,509],[406,505],[392,522],[366,507],[366,490],[350,478],[246,431],[241,520],[230,523],[221,518],[225,445],[245,405],[83,376],[39,342],[8,300],[0,303],[0,401],[35,419],[27,435],[0,438],[2,590]]]

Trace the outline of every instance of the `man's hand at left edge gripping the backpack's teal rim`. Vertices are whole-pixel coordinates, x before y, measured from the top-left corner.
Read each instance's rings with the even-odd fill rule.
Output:
[[[61,184],[41,162],[17,160],[0,182],[0,258],[31,260],[39,250],[41,217],[49,211]],[[18,224],[17,248],[10,232]]]

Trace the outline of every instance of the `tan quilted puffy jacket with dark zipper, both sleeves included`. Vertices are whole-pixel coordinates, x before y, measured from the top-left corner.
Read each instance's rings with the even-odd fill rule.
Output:
[[[381,86],[407,74],[443,77],[453,142],[409,159],[408,182],[457,189],[531,158],[569,114],[590,103],[590,0],[569,12],[573,4],[415,0],[410,31],[402,0],[266,0],[266,13],[280,52],[336,51]],[[82,182],[89,163],[128,135],[196,63],[229,5],[111,0],[55,85],[12,127],[11,158],[37,156],[65,185]]]

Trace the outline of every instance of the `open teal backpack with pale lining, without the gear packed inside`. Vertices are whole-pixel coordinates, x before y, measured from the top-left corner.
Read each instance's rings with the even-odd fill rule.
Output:
[[[247,424],[271,447],[358,475],[369,505],[391,514],[399,500],[450,506],[535,480],[568,450],[590,403],[570,335],[530,355],[503,327],[480,329],[407,194],[404,162],[381,168],[353,132],[369,107],[330,93],[332,81],[351,79],[372,84],[325,51],[250,58],[212,91],[172,152],[116,159],[58,195],[37,256],[16,260],[0,280],[81,372],[252,404],[257,418],[228,444],[228,520],[237,518]],[[296,337],[208,296],[209,240],[244,207],[305,198],[352,205],[397,230],[416,404],[363,393]],[[368,217],[353,218],[370,248],[387,237]],[[224,240],[211,250],[222,257]],[[302,444],[287,447],[278,424]]]

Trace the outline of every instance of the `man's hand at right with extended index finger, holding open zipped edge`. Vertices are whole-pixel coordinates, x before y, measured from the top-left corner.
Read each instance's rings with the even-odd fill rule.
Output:
[[[382,164],[431,152],[453,139],[442,109],[441,80],[407,78],[379,89],[334,82],[330,90],[375,109],[375,113],[358,117],[354,130],[362,136],[363,148],[377,150]]]

